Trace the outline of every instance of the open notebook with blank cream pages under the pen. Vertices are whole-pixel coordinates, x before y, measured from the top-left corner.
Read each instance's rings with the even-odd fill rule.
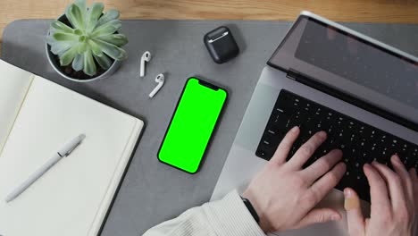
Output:
[[[0,235],[96,235],[144,122],[0,60]],[[66,142],[86,139],[21,196]]]

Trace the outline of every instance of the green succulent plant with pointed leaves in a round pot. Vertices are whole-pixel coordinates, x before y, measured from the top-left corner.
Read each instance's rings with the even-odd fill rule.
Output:
[[[121,46],[128,43],[128,38],[118,33],[121,29],[120,13],[116,10],[103,13],[103,10],[104,4],[95,3],[88,7],[86,0],[77,0],[65,11],[70,23],[51,23],[46,42],[62,66],[71,64],[75,71],[82,70],[94,76],[96,64],[107,70],[113,60],[127,57]]]

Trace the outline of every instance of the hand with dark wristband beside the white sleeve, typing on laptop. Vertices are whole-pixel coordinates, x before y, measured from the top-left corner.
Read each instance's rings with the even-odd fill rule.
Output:
[[[316,133],[286,162],[299,128],[288,132],[276,153],[263,170],[250,182],[242,194],[249,199],[260,216],[264,232],[282,232],[305,227],[313,223],[339,221],[339,212],[330,208],[316,208],[332,190],[343,174],[346,165],[339,162],[340,150],[332,150],[305,169],[302,166],[326,139],[326,133]]]

